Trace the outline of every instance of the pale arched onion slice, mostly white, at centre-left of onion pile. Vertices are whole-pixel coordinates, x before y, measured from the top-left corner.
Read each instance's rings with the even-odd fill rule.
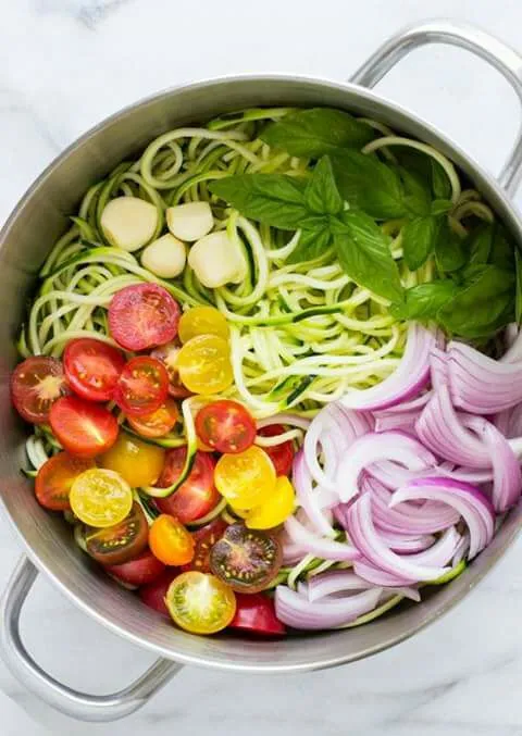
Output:
[[[348,501],[359,492],[359,476],[372,463],[394,460],[410,471],[434,467],[436,460],[417,439],[401,432],[372,432],[359,437],[343,458],[337,472],[337,492]]]

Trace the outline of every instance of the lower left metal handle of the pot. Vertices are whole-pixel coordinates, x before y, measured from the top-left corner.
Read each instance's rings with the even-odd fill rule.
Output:
[[[20,634],[22,607],[37,575],[33,562],[23,557],[0,603],[0,651],[15,677],[51,708],[80,721],[115,721],[145,706],[182,669],[176,662],[159,659],[136,682],[113,695],[87,695],[59,683],[35,662]]]

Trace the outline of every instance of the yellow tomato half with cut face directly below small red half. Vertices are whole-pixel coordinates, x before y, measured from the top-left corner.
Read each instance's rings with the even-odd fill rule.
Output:
[[[233,509],[253,509],[275,489],[274,465],[264,450],[252,445],[245,452],[223,454],[214,470],[215,487]]]

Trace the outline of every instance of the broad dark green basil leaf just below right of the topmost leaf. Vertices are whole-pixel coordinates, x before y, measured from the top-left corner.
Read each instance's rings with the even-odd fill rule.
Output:
[[[332,154],[335,179],[343,199],[375,220],[402,217],[408,210],[398,173],[374,155],[338,150]]]

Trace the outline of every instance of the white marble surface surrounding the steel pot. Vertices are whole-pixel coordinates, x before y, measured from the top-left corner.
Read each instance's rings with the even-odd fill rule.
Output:
[[[173,84],[234,72],[348,76],[405,23],[474,21],[522,49],[520,0],[0,0],[0,220],[86,128]],[[520,112],[507,84],[463,52],[431,48],[382,84],[492,171]],[[0,519],[0,587],[18,557]],[[2,736],[522,735],[522,540],[457,610],[413,640],[341,669],[245,677],[185,669],[142,711],[79,724],[38,703],[0,663]],[[150,657],[101,629],[44,581],[24,631],[45,666],[109,691]]]

